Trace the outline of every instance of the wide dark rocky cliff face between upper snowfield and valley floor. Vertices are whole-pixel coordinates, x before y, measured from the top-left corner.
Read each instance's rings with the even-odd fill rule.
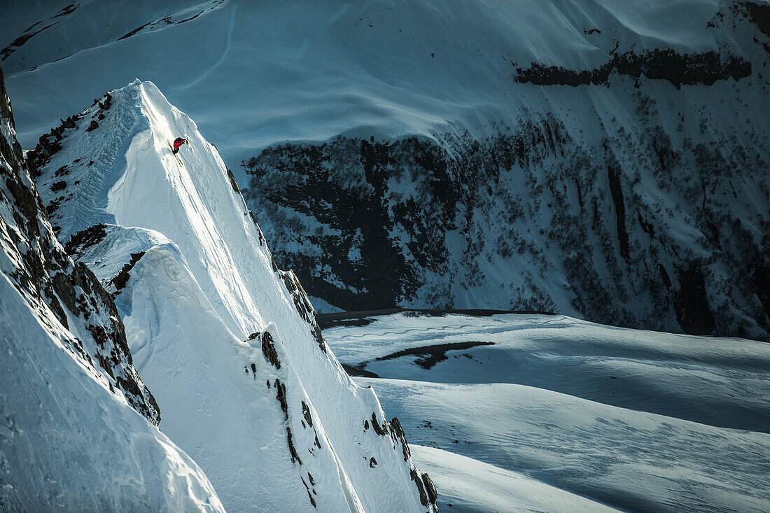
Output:
[[[640,94],[638,101],[648,100]],[[626,146],[619,137],[605,143]],[[705,290],[740,294],[736,303],[745,304],[742,319],[721,310],[715,332],[767,337],[770,320],[756,299],[763,297],[761,285],[748,283],[743,292],[734,287],[745,270],[770,265],[767,214],[754,213],[759,230],[739,233],[732,193],[744,183],[770,197],[761,152],[738,145],[738,159],[726,160],[716,142],[685,139],[674,146],[655,126],[632,146],[638,159],[621,163],[612,149],[572,139],[556,119],[527,122],[485,141],[458,141],[454,155],[411,138],[381,144],[373,163],[361,153],[370,146],[346,138],[278,146],[246,164],[253,179],[245,196],[265,220],[269,242],[286,247],[296,240],[306,248],[277,250],[275,259],[296,270],[316,297],[346,310],[417,302],[559,311],[557,292],[538,285],[538,277],[556,272],[574,294],[571,307],[588,320],[687,331],[693,325],[671,314],[669,289],[679,289],[678,269],[702,249],[711,255],[704,266],[730,270],[710,276]],[[377,173],[387,181],[373,177]],[[681,207],[651,201],[638,187],[641,173]],[[690,210],[693,203],[697,208]],[[691,213],[688,226],[708,236],[677,240],[680,208]],[[320,226],[304,225],[295,213]],[[542,217],[550,223],[540,223]],[[460,293],[490,287],[487,274],[500,260],[521,262],[514,268],[523,284],[512,280],[497,303],[458,304]],[[721,309],[710,301],[709,310]]]

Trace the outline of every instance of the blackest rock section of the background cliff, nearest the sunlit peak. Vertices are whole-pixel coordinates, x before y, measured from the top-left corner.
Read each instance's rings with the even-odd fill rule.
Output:
[[[266,200],[269,202],[264,203],[266,208],[274,208],[273,205],[278,204],[291,206],[297,212],[316,217],[320,223],[333,227],[345,226],[343,235],[335,237],[333,242],[323,243],[323,248],[330,252],[328,257],[335,262],[334,272],[344,276],[346,287],[330,287],[325,277],[307,272],[307,267],[313,263],[301,255],[295,255],[296,260],[283,260],[285,253],[279,250],[276,257],[283,267],[290,263],[289,267],[299,273],[300,281],[306,283],[314,295],[327,297],[332,303],[341,303],[349,309],[356,309],[356,304],[367,307],[390,306],[393,304],[394,295],[408,295],[419,287],[417,277],[407,259],[400,248],[391,243],[387,234],[397,221],[394,222],[390,218],[387,203],[383,200],[385,180],[403,164],[397,163],[394,154],[406,156],[414,166],[437,166],[436,169],[427,170],[437,176],[431,179],[427,186],[432,184],[440,198],[451,193],[450,190],[444,190],[440,180],[446,167],[440,150],[423,146],[417,139],[396,142],[393,146],[397,146],[395,151],[390,145],[380,145],[377,142],[336,139],[320,147],[279,146],[274,149],[275,153],[272,155],[277,159],[275,167],[273,163],[265,165],[264,153],[259,159],[252,159],[246,164],[246,169],[255,175],[260,184],[276,177],[274,170],[286,169],[296,178],[296,183],[286,183],[286,178],[283,178],[280,183],[285,185],[285,188],[282,186],[278,190],[265,191],[266,195],[259,196],[249,192],[256,189],[256,183],[253,183],[253,187],[245,193],[248,201]],[[352,188],[340,188],[339,183],[346,182],[349,178],[340,176],[339,172],[331,174],[326,168],[351,164],[357,168],[356,172],[360,169],[361,176],[350,177],[358,183],[353,184]],[[285,168],[285,165],[290,168]],[[308,191],[313,191],[311,198],[306,196]],[[437,203],[440,209],[432,216],[433,219],[420,216],[423,209],[418,208],[413,201],[396,206],[398,218],[403,220],[403,223],[419,229],[410,247],[421,263],[432,263],[443,257],[440,250],[441,241],[429,243],[432,236],[443,239],[442,230],[434,230],[437,226],[447,223],[454,227],[451,224],[454,214],[451,203],[451,199],[450,204],[446,206]],[[320,234],[309,234],[311,243],[321,242],[321,238]],[[276,245],[279,246],[281,245]],[[436,247],[436,250],[431,246]],[[360,252],[360,259],[350,260],[349,254],[356,251]],[[376,276],[372,276],[375,267]]]

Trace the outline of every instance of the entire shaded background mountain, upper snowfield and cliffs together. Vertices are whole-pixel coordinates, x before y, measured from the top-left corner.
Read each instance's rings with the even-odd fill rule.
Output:
[[[60,4],[0,21],[22,143],[152,79],[317,305],[768,337],[768,2]]]

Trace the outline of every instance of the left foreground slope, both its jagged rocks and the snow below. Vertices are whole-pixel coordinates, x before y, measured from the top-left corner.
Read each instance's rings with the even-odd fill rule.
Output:
[[[0,509],[223,511],[154,425],[112,298],[56,241],[2,69],[0,126]]]

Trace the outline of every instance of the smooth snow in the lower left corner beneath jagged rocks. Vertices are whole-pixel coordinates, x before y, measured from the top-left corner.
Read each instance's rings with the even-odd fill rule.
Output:
[[[224,511],[196,462],[68,340],[0,276],[0,509]]]

